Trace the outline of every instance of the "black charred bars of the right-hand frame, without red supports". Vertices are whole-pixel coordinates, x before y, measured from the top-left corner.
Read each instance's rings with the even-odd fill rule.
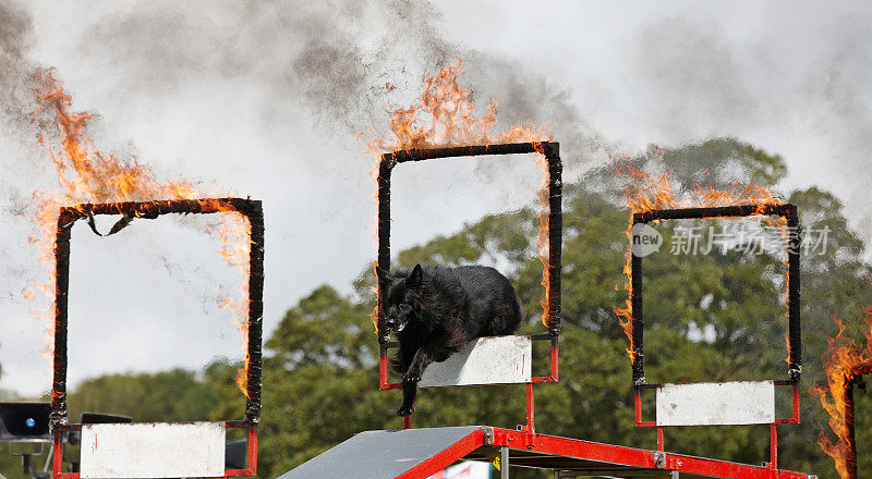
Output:
[[[633,213],[633,224],[665,220],[690,220],[705,218],[779,216],[787,220],[787,316],[788,316],[788,367],[787,374],[792,383],[799,381],[802,371],[802,339],[800,327],[800,265],[799,251],[801,229],[796,205],[762,204],[736,205],[710,208],[661,209]],[[632,238],[630,240],[632,241]],[[632,255],[632,253],[630,253]],[[644,314],[642,302],[642,258],[632,255],[630,261],[630,303],[632,306],[632,341],[633,341],[633,385],[645,384],[644,367]]]

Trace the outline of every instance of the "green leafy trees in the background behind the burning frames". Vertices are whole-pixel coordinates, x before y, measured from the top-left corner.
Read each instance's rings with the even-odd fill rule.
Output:
[[[777,184],[786,175],[778,156],[731,138],[677,150],[652,149],[630,162],[673,172],[679,193],[701,179],[724,187],[736,180]],[[705,170],[708,173],[701,175]],[[560,382],[536,388],[536,426],[549,434],[653,449],[655,431],[632,426],[628,342],[614,312],[627,297],[622,267],[629,212],[620,204],[621,182],[613,173],[596,171],[564,187]],[[872,270],[862,260],[863,243],[848,229],[832,194],[811,187],[795,191],[787,199],[799,206],[807,232],[827,228],[829,233],[825,251],[802,259],[802,425],[779,427],[779,459],[782,467],[833,478],[832,462],[814,444],[826,416],[818,398],[806,393],[821,373],[825,340],[835,332],[831,317],[838,315],[852,334],[859,333],[856,319],[861,307],[872,305]],[[396,265],[498,265],[521,298],[526,318],[521,332],[541,332],[535,207],[488,216],[400,251]],[[736,250],[674,255],[669,246],[678,232],[673,223],[678,222],[657,226],[664,247],[644,259],[649,382],[784,378],[787,322],[782,259]],[[351,296],[327,285],[316,287],[287,311],[266,342],[262,477],[279,476],[356,432],[401,427],[395,416],[399,393],[377,389],[378,344],[367,316],[375,300],[372,284],[367,267],[354,281]],[[544,367],[546,353],[534,352],[534,368]],[[96,378],[82,384],[70,404],[75,412],[129,414],[136,420],[233,419],[242,416],[244,404],[232,380],[237,367],[217,361],[196,374],[173,370]],[[654,414],[651,396],[644,397],[649,418]],[[872,444],[868,405],[867,395],[858,392],[860,444]],[[519,385],[423,390],[413,418],[416,427],[513,428],[523,420],[524,394]],[[671,428],[666,445],[681,453],[760,464],[768,459],[768,430],[765,426]],[[872,470],[872,457],[862,454],[860,467]],[[547,476],[519,471],[517,477]]]

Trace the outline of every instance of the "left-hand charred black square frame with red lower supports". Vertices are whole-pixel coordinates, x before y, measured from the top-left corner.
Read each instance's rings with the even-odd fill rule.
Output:
[[[49,423],[53,430],[53,477],[76,479],[77,472],[62,472],[62,432],[81,430],[82,425],[68,423],[66,405],[66,327],[68,293],[70,284],[70,238],[73,224],[96,214],[121,214],[122,221],[156,219],[161,214],[238,212],[251,224],[251,251],[249,254],[249,320],[246,328],[247,383],[244,419],[226,421],[228,428],[249,429],[247,469],[228,469],[230,476],[257,474],[257,423],[261,418],[262,342],[264,316],[264,211],[259,200],[246,198],[171,199],[155,201],[128,201],[114,204],[83,204],[62,207],[58,216],[55,261],[55,354]]]

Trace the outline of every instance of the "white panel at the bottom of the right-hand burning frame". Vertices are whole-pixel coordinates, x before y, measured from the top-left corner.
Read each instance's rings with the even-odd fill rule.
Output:
[[[657,388],[657,426],[766,425],[775,421],[775,383],[703,382]]]

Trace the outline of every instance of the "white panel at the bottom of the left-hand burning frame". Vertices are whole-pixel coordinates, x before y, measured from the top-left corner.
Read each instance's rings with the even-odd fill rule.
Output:
[[[223,422],[82,426],[81,477],[223,477]]]

